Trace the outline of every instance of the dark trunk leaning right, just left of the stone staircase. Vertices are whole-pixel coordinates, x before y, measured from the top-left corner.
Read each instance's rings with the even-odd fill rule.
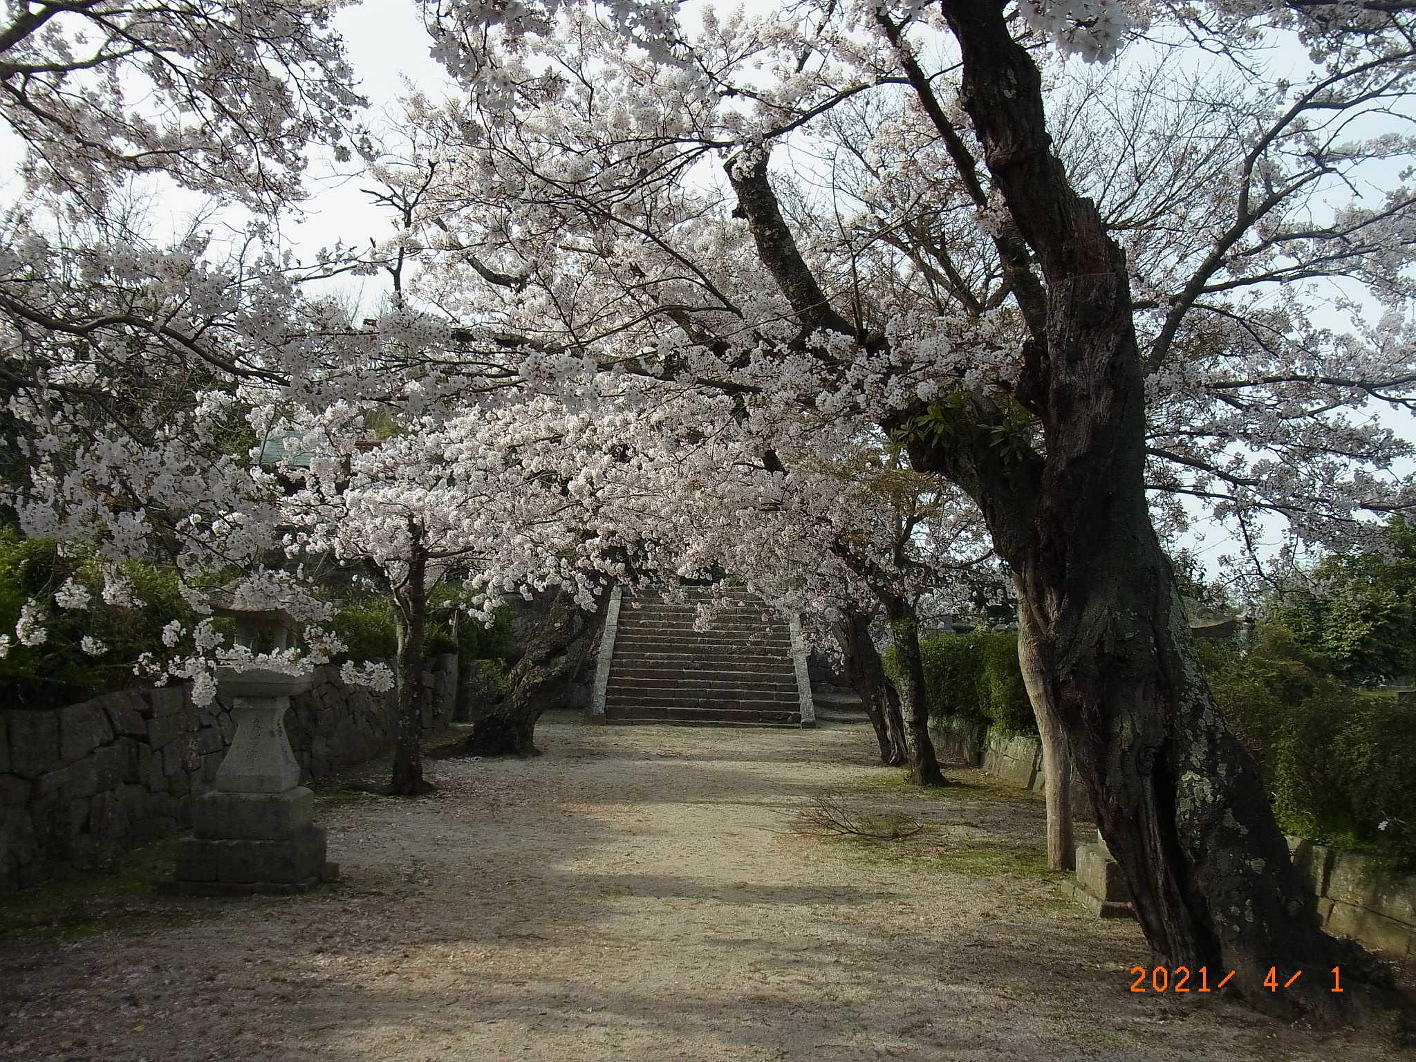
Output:
[[[595,641],[595,612],[575,603],[573,595],[556,590],[545,623],[525,656],[511,668],[511,691],[473,722],[466,750],[474,756],[537,756],[535,724],[564,697]]]

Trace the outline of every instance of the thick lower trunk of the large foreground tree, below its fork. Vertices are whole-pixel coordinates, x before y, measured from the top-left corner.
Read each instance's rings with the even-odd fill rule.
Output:
[[[1083,517],[1070,498],[1066,537],[1100,541],[1100,514]],[[1062,508],[1044,504],[1054,518]],[[1263,987],[1272,966],[1284,981],[1341,966],[1355,984],[1372,964],[1321,932],[1267,787],[1209,695],[1150,523],[1137,513],[1123,527],[1124,547],[1073,549],[1065,575],[1032,558],[1020,605],[1042,632],[1039,667],[1137,918],[1170,966],[1236,970],[1235,988],[1264,1007],[1337,1020],[1354,1001],[1334,998],[1325,977],[1283,998]]]

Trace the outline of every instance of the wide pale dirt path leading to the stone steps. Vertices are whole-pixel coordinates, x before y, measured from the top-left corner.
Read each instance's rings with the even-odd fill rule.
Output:
[[[1039,872],[1041,806],[959,772],[973,787],[916,797],[864,726],[538,735],[530,762],[433,760],[433,797],[326,803],[334,888],[0,943],[0,1056],[1393,1058],[1215,995],[1130,994],[1140,932]],[[794,833],[824,790],[932,828]]]

